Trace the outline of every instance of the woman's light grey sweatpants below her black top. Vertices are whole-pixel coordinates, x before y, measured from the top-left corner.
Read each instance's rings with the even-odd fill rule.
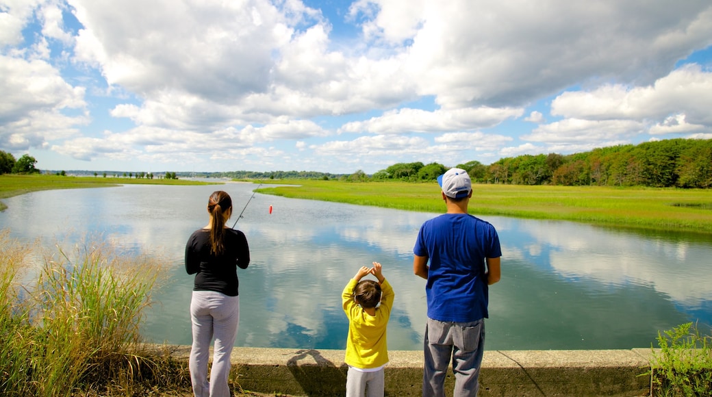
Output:
[[[193,345],[189,369],[196,397],[228,397],[230,388],[230,354],[240,322],[240,297],[220,292],[193,291],[190,319],[193,324]],[[210,342],[215,339],[213,365],[208,382]]]

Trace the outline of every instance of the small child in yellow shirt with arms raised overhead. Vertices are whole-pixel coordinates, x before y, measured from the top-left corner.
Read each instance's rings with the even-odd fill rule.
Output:
[[[361,280],[366,275],[374,280]],[[384,394],[384,367],[388,364],[386,328],[393,306],[393,288],[383,277],[381,264],[362,266],[341,294],[349,334],[345,363],[347,397],[376,397]],[[378,305],[380,302],[380,305]]]

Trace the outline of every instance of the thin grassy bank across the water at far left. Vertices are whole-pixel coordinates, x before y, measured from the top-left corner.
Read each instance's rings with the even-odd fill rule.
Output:
[[[215,184],[221,182],[216,181]],[[0,175],[0,199],[19,196],[31,191],[51,189],[83,189],[93,187],[119,186],[125,184],[153,184],[153,185],[205,185],[208,182],[187,181],[183,179],[132,179],[132,178],[103,178],[100,176],[58,176],[58,175]],[[0,201],[0,211],[7,206]]]

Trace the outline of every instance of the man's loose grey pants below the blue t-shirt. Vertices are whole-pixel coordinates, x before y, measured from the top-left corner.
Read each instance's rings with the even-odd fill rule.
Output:
[[[453,396],[477,396],[484,342],[484,319],[475,322],[428,319],[425,327],[423,396],[445,396],[445,376],[451,357],[455,374]]]

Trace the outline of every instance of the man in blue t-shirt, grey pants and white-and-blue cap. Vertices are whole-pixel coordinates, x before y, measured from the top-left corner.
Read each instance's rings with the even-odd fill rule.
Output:
[[[463,169],[438,177],[447,211],[421,226],[413,272],[427,280],[423,396],[444,396],[452,359],[454,396],[476,396],[488,317],[488,285],[501,276],[494,226],[467,213],[472,184]]]

